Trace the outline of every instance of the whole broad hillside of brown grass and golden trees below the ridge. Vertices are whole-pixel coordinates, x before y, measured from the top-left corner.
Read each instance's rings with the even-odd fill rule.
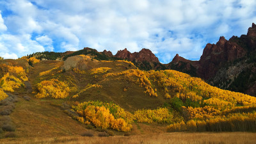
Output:
[[[88,129],[110,135],[256,131],[255,97],[175,70],[142,71],[129,61],[84,55],[33,67],[22,59],[0,65],[2,137],[70,136]]]

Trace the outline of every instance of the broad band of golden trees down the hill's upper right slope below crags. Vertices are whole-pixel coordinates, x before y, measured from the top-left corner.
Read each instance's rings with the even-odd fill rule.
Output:
[[[202,98],[210,99],[205,100],[207,103],[218,104],[227,108],[239,105],[253,105],[256,104],[256,98],[250,97],[243,93],[230,92],[228,90],[221,90],[211,86],[202,79],[197,77],[191,77],[188,74],[177,72],[176,70],[150,70],[146,72],[147,77],[152,79],[154,83],[157,83],[164,90],[165,97],[179,97],[182,100],[190,99],[193,102],[200,101]],[[169,92],[176,93],[170,95]],[[218,99],[218,102],[216,101]],[[217,108],[217,107],[216,107]]]

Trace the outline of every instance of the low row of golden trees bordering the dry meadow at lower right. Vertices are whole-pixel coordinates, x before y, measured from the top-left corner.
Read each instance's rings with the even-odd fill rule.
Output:
[[[189,120],[186,125],[177,123],[168,125],[167,131],[256,131],[256,112],[232,113],[227,116],[214,116],[207,120]]]

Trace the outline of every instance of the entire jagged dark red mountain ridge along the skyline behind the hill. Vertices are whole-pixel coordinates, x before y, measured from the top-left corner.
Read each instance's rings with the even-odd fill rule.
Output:
[[[90,54],[96,60],[132,61],[141,70],[178,70],[191,76],[201,77],[219,88],[256,95],[256,80],[252,76],[256,74],[254,70],[256,61],[256,25],[254,23],[252,27],[248,28],[247,35],[232,36],[229,40],[226,40],[224,36],[220,36],[216,44],[205,45],[202,56],[198,61],[186,60],[176,54],[170,63],[162,64],[150,49],[143,48],[140,52],[131,53],[125,48],[113,55],[111,51],[98,52],[96,49],[89,47],[84,47],[84,49],[76,52],[63,52],[62,60],[78,54]],[[240,67],[239,63],[243,63],[244,67]],[[246,82],[238,86],[237,79],[243,77],[239,75],[245,73],[246,68],[249,68],[251,72],[243,79]],[[232,69],[236,69],[235,74],[231,72]],[[228,72],[232,73],[232,76]],[[220,76],[220,74],[223,76]]]

